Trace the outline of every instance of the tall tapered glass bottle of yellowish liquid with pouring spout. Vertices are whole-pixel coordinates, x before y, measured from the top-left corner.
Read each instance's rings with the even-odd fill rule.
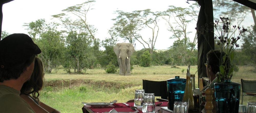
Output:
[[[190,73],[187,73],[187,79],[186,79],[186,87],[183,95],[183,102],[188,103],[188,111],[193,111],[194,108],[194,98],[193,98],[193,92],[192,92],[192,86],[190,82]]]

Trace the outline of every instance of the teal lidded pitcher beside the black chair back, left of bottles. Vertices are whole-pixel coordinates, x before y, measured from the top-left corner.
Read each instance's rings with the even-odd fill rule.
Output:
[[[168,100],[169,100],[170,110],[173,110],[174,102],[182,101],[185,87],[186,87],[185,78],[179,78],[179,76],[175,76],[175,78],[167,80]]]

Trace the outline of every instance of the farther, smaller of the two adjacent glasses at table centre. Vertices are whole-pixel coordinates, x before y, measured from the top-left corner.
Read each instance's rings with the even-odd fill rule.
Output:
[[[136,89],[135,90],[135,97],[134,97],[134,106],[135,107],[142,107],[143,100],[144,100],[144,92],[143,89]]]

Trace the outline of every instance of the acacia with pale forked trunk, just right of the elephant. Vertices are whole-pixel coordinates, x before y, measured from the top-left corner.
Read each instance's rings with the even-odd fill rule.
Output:
[[[158,31],[159,31],[157,21],[158,21],[158,18],[160,16],[160,13],[159,12],[152,12],[152,11],[150,11],[150,9],[133,11],[133,13],[135,15],[137,15],[136,18],[143,21],[143,24],[146,26],[146,28],[150,28],[151,31],[152,31],[152,37],[149,38],[149,42],[144,40],[140,34],[135,34],[134,35],[136,40],[138,40],[144,46],[144,48],[146,50],[149,49],[150,54],[152,54],[153,50],[154,50],[154,47],[155,47],[156,39],[157,39],[157,36],[158,36]],[[145,47],[144,43],[147,45],[148,48]]]

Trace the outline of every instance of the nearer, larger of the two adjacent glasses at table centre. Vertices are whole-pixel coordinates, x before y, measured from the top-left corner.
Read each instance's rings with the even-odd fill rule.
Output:
[[[142,112],[155,113],[155,94],[145,93]]]

